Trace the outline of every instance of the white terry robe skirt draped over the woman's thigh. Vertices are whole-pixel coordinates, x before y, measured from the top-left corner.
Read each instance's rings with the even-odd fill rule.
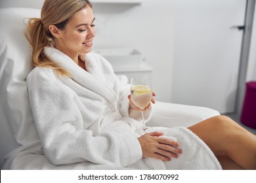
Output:
[[[170,169],[170,170],[221,170],[221,164],[209,146],[186,127],[171,129],[155,127],[163,131],[165,136],[175,137],[179,142],[182,154],[171,161],[161,161],[155,158],[142,158],[129,168],[133,169]],[[151,129],[152,130],[152,129]]]

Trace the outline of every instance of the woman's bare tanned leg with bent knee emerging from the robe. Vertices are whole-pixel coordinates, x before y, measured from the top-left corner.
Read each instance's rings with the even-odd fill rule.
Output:
[[[188,127],[211,148],[223,167],[256,169],[256,135],[226,116],[214,116]]]

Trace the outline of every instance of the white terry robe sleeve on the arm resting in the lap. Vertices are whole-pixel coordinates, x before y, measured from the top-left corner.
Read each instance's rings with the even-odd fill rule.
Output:
[[[54,165],[90,161],[125,167],[142,157],[139,141],[129,128],[117,126],[97,136],[84,129],[75,92],[52,69],[36,67],[27,85],[43,150]]]

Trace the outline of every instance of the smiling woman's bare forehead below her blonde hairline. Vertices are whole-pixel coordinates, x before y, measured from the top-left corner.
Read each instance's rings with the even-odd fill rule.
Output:
[[[92,8],[87,5],[85,8],[76,12],[74,16],[70,18],[70,21],[68,22],[68,24],[70,25],[91,24],[94,18],[95,17],[93,15]]]

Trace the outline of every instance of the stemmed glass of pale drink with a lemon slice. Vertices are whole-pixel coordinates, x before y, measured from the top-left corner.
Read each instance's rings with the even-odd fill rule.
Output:
[[[144,108],[150,104],[152,100],[152,89],[147,76],[138,76],[131,78],[131,100],[141,109],[142,130],[147,129],[144,120]]]

